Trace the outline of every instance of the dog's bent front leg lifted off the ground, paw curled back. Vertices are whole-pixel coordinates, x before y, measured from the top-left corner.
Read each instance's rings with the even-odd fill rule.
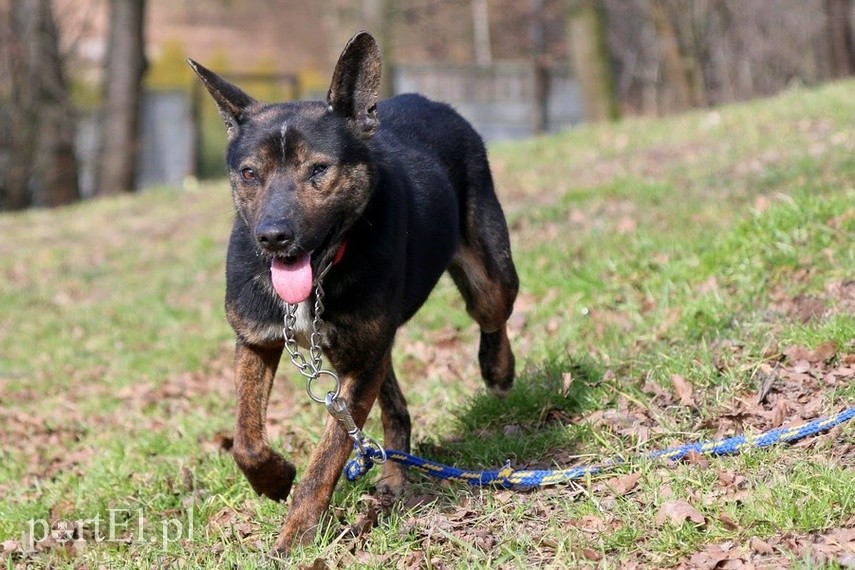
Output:
[[[261,347],[238,339],[235,349],[237,425],[232,455],[259,495],[274,501],[288,496],[296,470],[267,442],[267,402],[282,347]]]

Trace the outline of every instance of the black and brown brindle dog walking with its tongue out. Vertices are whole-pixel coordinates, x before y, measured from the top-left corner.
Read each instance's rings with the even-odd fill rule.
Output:
[[[265,417],[283,353],[285,304],[303,346],[323,276],[321,348],[361,427],[380,402],[384,443],[409,451],[410,415],[391,350],[398,328],[447,270],[480,327],[486,386],[506,394],[514,355],[506,323],[519,281],[484,143],[450,106],[420,95],[378,103],[381,55],[367,32],[338,59],[325,102],[263,104],[189,60],[226,124],[236,210],[226,259],[237,421],[232,454],[259,494],[284,500],[293,464],[267,441]],[[330,265],[330,260],[333,260]],[[312,540],[352,450],[328,418],[274,552]],[[384,464],[392,496],[403,467]]]

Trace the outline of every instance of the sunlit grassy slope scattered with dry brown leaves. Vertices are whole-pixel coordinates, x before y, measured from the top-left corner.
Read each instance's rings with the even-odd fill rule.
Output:
[[[852,90],[494,147],[523,283],[518,387],[504,402],[477,392],[475,331],[443,281],[396,354],[417,450],[469,466],[568,465],[852,405]],[[8,564],[264,564],[286,507],[254,497],[218,450],[232,422],[228,200],[211,185],[0,217],[0,539],[20,542],[33,518],[111,509],[128,520],[119,537],[135,536],[141,510],[158,539],[97,542],[89,523],[75,546],[45,541]],[[793,352],[829,341],[824,358]],[[767,403],[745,404],[769,374]],[[674,375],[695,406],[675,396]],[[323,414],[280,376],[271,439],[302,466]],[[641,462],[626,492],[592,480],[516,495],[415,476],[402,505],[356,538],[347,523],[371,512],[371,482],[342,484],[299,560],[662,567],[727,545],[812,567],[798,540],[855,526],[853,445],[845,428],[710,467]],[[657,520],[677,499],[704,522]],[[188,508],[192,541],[161,544],[163,522],[186,528]],[[752,550],[754,537],[773,552]]]

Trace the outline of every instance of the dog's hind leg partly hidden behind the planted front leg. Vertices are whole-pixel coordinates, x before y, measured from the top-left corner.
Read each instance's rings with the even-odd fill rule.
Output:
[[[392,368],[391,351],[384,358],[384,366],[386,376],[383,379],[382,386],[380,386],[378,397],[381,420],[383,421],[384,447],[409,453],[412,429],[410,413],[407,411],[407,401],[404,399],[404,394],[401,393],[398,379],[395,377],[395,370]],[[383,495],[395,496],[401,492],[405,482],[406,470],[394,461],[387,461],[383,465],[383,474],[380,477],[377,489]]]

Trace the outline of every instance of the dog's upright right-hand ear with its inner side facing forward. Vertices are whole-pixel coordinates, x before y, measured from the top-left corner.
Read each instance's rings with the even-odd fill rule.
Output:
[[[370,137],[380,126],[377,97],[381,68],[377,42],[368,32],[359,32],[341,52],[327,93],[330,110],[347,119],[351,130],[362,138]]]

